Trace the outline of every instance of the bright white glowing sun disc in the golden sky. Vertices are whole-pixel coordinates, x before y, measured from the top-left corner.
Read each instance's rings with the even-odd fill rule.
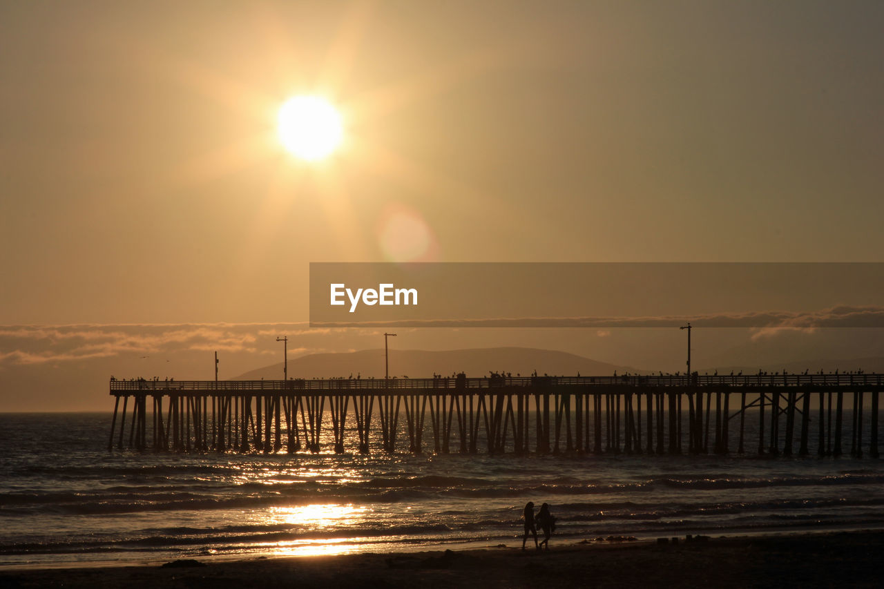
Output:
[[[277,131],[289,152],[312,162],[339,146],[344,126],[338,110],[324,98],[294,96],[279,108]]]

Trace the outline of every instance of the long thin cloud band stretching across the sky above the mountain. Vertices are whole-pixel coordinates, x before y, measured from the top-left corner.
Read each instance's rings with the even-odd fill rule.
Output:
[[[598,337],[612,329],[635,327],[674,328],[687,322],[695,327],[738,327],[751,330],[752,340],[773,338],[781,333],[815,333],[831,327],[884,327],[884,307],[838,305],[829,309],[792,312],[758,311],[698,316],[662,317],[530,317],[491,319],[446,319],[399,325],[358,324],[358,327],[326,325],[311,328],[306,323],[249,324],[121,324],[121,325],[0,325],[0,367],[9,364],[66,363],[113,356],[166,356],[186,352],[240,353],[277,356],[276,338],[288,335],[289,354],[309,354],[329,349],[352,348],[354,336],[376,340],[384,328],[403,330],[441,327],[451,330],[484,327],[590,328]],[[295,341],[296,340],[296,341]],[[335,342],[339,346],[335,346]]]

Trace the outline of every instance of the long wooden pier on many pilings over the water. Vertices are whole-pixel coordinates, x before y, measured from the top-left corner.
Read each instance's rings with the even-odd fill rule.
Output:
[[[878,457],[882,388],[863,373],[111,380],[108,448]]]

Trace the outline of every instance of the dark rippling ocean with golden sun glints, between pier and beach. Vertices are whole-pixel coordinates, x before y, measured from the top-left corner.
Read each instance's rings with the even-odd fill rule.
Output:
[[[518,547],[527,501],[553,548],[884,527],[869,457],[140,454],[109,432],[110,413],[0,415],[0,567]]]

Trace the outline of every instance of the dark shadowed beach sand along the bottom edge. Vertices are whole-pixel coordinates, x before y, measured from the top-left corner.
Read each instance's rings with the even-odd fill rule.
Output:
[[[553,542],[555,538],[553,536]],[[0,572],[0,587],[878,587],[884,532]],[[189,566],[185,566],[189,565]]]

